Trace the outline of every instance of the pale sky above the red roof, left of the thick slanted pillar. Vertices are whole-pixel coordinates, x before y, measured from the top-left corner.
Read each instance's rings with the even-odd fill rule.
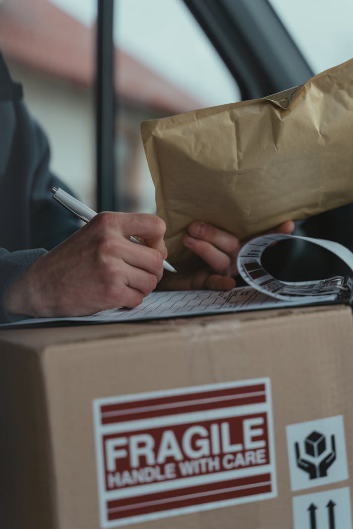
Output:
[[[96,17],[94,0],[51,1],[86,25]],[[114,40],[202,106],[239,100],[236,83],[182,0],[115,1]]]

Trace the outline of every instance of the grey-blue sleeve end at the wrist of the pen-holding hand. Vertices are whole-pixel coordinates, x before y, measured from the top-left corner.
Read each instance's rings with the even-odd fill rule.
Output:
[[[27,270],[46,250],[21,250],[8,252],[0,248],[0,323],[21,320],[25,316],[10,315],[5,309],[5,296],[12,284]]]

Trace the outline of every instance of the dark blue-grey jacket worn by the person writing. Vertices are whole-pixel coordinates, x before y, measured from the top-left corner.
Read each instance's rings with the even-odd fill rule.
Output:
[[[22,101],[0,54],[0,322],[8,288],[43,252],[74,233],[79,222],[52,199],[67,189],[49,170],[49,145]]]

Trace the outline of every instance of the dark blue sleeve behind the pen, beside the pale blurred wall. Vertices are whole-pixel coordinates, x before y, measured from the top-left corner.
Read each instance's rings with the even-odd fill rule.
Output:
[[[22,102],[15,110],[16,131],[2,186],[6,200],[0,211],[2,224],[10,221],[11,229],[2,235],[0,246],[10,251],[51,250],[73,234],[80,222],[52,198],[52,187],[72,192],[50,170],[46,134]]]

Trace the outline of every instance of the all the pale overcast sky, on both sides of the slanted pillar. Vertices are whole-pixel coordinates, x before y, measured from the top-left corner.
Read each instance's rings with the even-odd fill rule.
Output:
[[[95,20],[95,0],[51,2],[86,25]],[[353,0],[270,2],[315,73],[353,57]],[[204,106],[238,100],[227,68],[182,0],[115,0],[114,35],[123,50]]]

